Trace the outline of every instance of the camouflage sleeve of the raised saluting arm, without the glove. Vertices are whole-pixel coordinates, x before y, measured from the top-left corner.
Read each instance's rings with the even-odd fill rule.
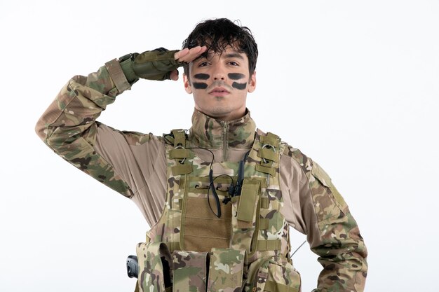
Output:
[[[99,125],[96,118],[127,89],[130,83],[117,60],[87,77],[74,76],[43,113],[35,130],[46,145],[72,165],[132,197],[128,183],[94,148]]]

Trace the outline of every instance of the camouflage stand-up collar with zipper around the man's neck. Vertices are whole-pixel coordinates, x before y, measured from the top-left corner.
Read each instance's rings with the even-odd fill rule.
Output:
[[[189,140],[203,148],[251,148],[255,139],[255,121],[250,118],[250,111],[238,120],[224,122],[206,116],[201,111],[194,111]]]

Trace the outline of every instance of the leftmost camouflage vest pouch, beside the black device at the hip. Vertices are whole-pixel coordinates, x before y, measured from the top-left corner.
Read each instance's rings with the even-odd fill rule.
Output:
[[[139,292],[171,291],[172,261],[163,242],[140,243],[136,247],[139,262]]]

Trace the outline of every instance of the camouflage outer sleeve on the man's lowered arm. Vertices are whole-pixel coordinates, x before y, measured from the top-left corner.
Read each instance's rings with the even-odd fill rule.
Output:
[[[289,148],[288,155],[306,175],[306,188],[300,194],[308,198],[313,216],[302,214],[311,250],[323,266],[318,286],[313,292],[362,292],[367,276],[367,249],[358,225],[330,176],[306,155]],[[305,179],[305,178],[304,178]],[[306,210],[302,209],[302,212]],[[310,219],[311,218],[311,219]]]

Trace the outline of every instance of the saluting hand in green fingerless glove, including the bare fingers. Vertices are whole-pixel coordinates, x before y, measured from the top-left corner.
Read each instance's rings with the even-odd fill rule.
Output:
[[[184,48],[183,50],[166,50],[166,48],[157,48],[147,50],[141,54],[130,54],[121,57],[120,62],[130,58],[132,70],[137,78],[163,81],[166,79],[177,80],[177,68],[183,63],[190,63],[198,56],[203,54],[207,47],[196,46],[194,48]]]

